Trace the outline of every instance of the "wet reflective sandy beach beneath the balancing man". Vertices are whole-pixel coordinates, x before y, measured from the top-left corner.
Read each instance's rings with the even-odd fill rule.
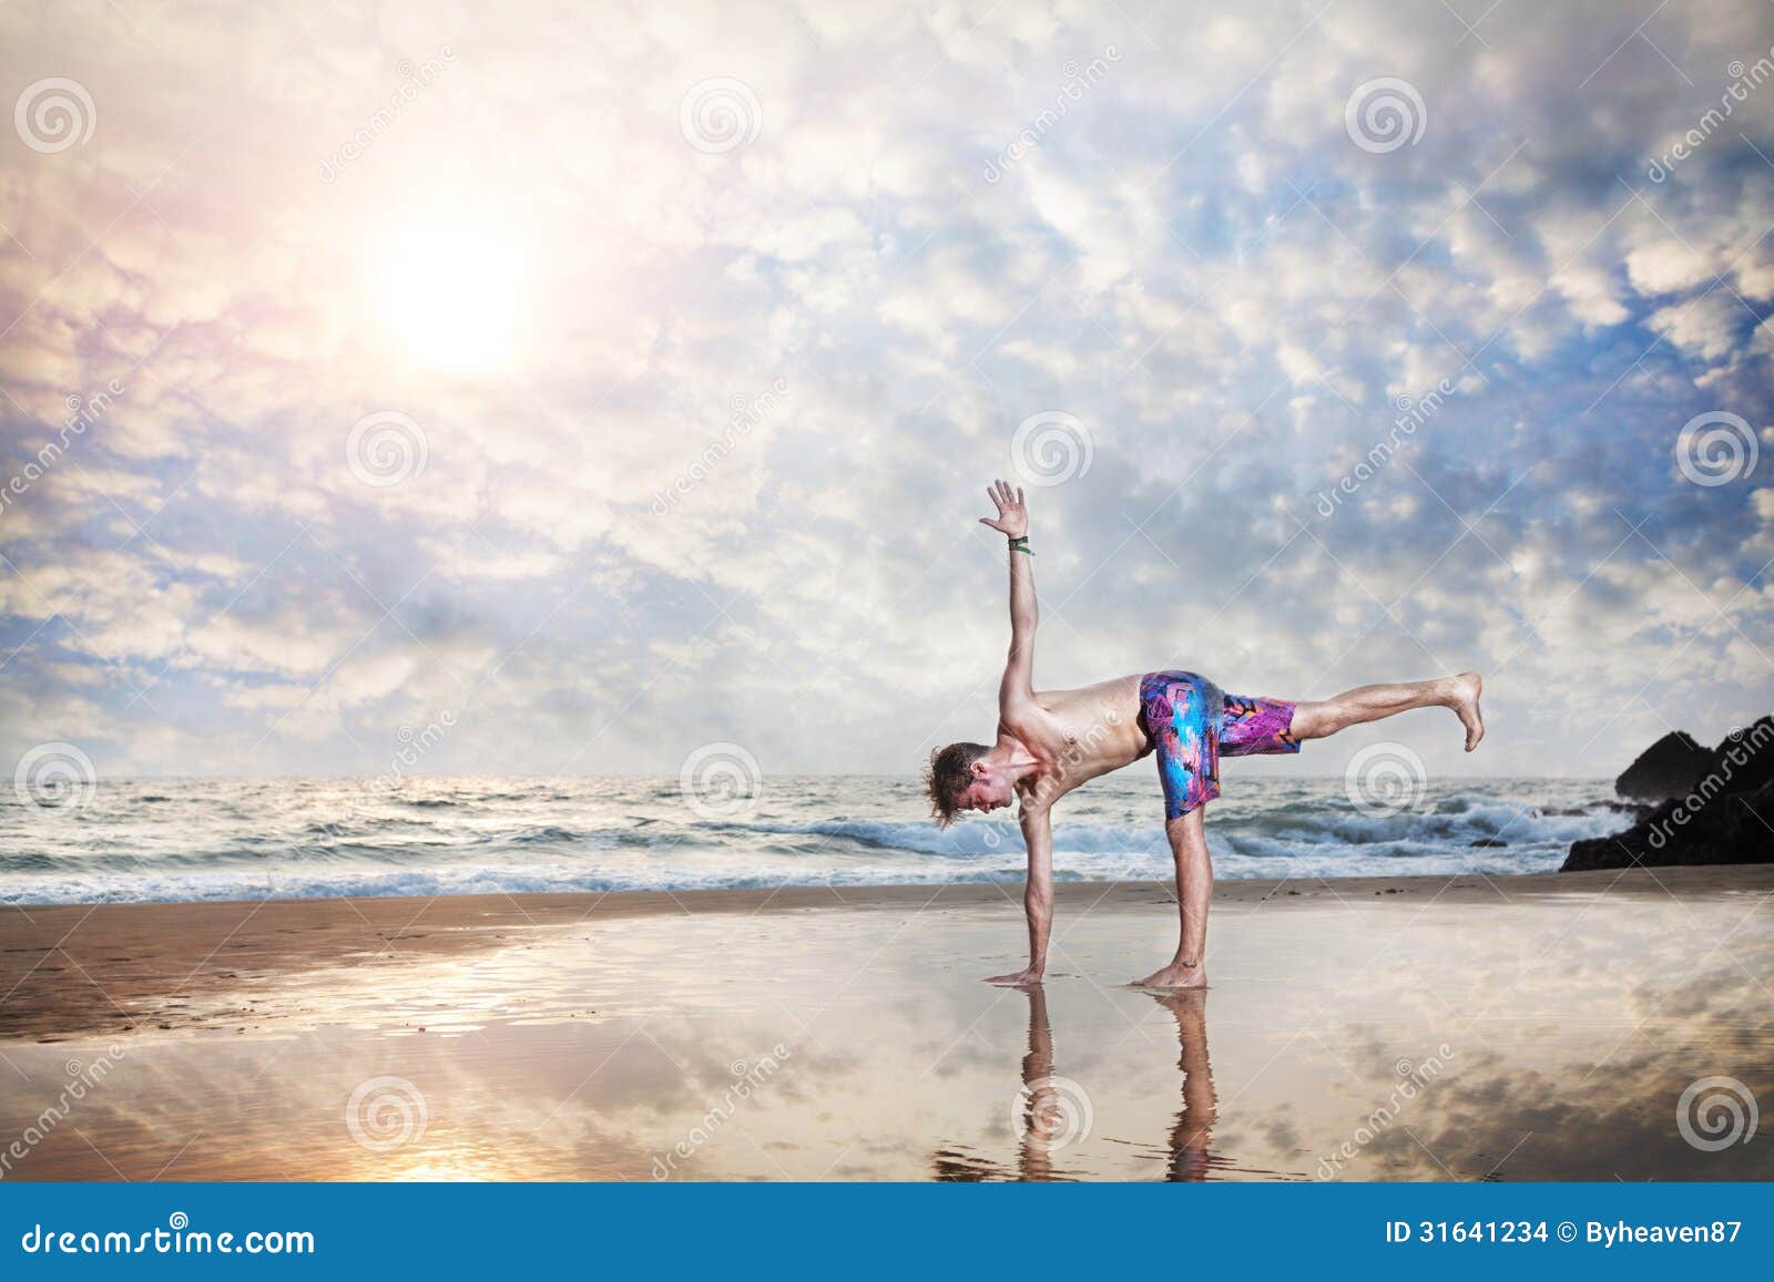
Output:
[[[9,906],[5,1179],[1769,1179],[1774,867]],[[1763,1124],[1767,1126],[1767,1124]],[[12,1147],[7,1149],[5,1145]]]

